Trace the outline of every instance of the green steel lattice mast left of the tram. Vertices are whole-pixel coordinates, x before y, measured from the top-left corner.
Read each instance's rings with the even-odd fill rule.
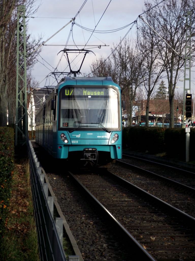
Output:
[[[17,53],[16,53],[16,134],[15,146],[27,145],[27,62],[25,5],[17,7]]]

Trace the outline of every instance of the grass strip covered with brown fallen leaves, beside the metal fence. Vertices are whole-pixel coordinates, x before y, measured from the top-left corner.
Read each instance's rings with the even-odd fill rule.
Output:
[[[15,163],[7,233],[1,261],[40,261],[28,161]]]

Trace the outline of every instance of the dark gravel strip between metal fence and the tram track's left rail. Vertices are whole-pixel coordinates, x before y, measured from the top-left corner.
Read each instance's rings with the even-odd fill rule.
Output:
[[[83,260],[136,260],[129,259],[112,227],[105,222],[88,195],[79,189],[70,173],[47,173],[47,177]]]

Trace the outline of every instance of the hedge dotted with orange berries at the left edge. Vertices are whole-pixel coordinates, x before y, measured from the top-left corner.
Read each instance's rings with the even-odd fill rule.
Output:
[[[0,127],[0,243],[8,221],[13,170],[14,129]]]

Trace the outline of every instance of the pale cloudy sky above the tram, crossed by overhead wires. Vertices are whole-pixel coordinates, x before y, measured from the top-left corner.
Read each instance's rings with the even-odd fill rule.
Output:
[[[81,9],[84,2],[86,3]],[[60,52],[66,44],[68,49],[82,49],[86,45],[85,49],[91,51],[86,55],[81,67],[80,76],[82,76],[82,73],[88,74],[90,72],[90,64],[96,58],[101,56],[107,58],[111,54],[111,48],[119,44],[120,39],[125,37],[129,30],[126,38],[134,38],[136,26],[132,27],[132,23],[142,14],[144,0],[37,0],[35,6],[38,7],[39,5],[38,11],[31,15],[35,18],[27,17],[26,21],[28,21],[28,34],[37,39],[41,35],[41,42],[45,42],[69,23],[72,18],[76,17],[73,27],[72,22],[70,22],[53,36],[45,43],[40,56],[37,57],[38,61],[31,74],[40,83],[40,87],[44,87],[44,85],[57,84],[53,77],[46,78],[54,69],[57,68],[60,72],[70,72],[69,67],[67,67],[67,59],[62,55],[63,52]],[[101,31],[101,33],[94,32],[92,34],[76,23],[92,31],[94,29]],[[106,32],[126,25],[129,26],[116,32]],[[130,29],[131,27],[132,29]],[[77,45],[77,47],[74,45]],[[101,48],[98,48],[100,45]],[[78,54],[70,53],[68,57],[72,62],[71,69],[78,70],[83,55],[78,56]]]

